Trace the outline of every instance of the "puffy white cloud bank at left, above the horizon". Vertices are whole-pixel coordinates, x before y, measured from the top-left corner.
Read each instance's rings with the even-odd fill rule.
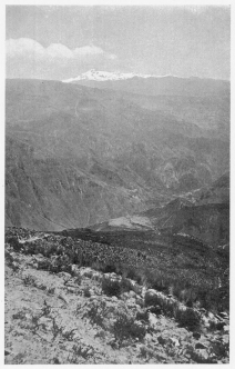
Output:
[[[85,66],[95,68],[117,60],[115,54],[95,46],[70,49],[61,43],[51,43],[44,48],[29,38],[7,40],[6,52],[9,78],[64,79]]]

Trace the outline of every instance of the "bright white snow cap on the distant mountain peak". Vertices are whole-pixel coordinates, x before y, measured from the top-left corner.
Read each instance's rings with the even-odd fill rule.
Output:
[[[119,80],[126,80],[134,77],[139,78],[150,78],[150,77],[167,77],[167,76],[153,76],[153,74],[141,74],[141,73],[122,73],[122,72],[106,72],[106,71],[98,71],[94,69],[89,70],[85,73],[82,73],[81,76],[78,76],[75,78],[70,78],[67,80],[63,80],[65,83],[81,81],[81,80],[90,80],[90,81],[119,81]]]

